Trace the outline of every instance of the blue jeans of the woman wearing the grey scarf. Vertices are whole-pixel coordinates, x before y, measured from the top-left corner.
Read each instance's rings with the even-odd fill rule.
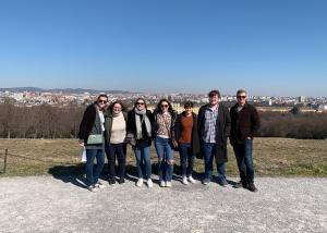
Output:
[[[136,157],[136,168],[138,179],[150,179],[152,177],[152,161],[150,161],[150,147],[140,147],[135,146],[134,149],[135,157]],[[143,161],[145,163],[145,176],[143,176]]]

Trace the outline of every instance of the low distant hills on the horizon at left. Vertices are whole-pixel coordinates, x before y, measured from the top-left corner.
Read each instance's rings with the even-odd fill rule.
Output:
[[[65,94],[131,94],[130,91],[124,90],[97,90],[97,89],[83,89],[83,88],[53,88],[53,89],[43,89],[38,87],[11,87],[11,88],[0,88],[0,91],[13,91],[13,93],[21,93],[21,91],[29,91],[29,93],[65,93]]]

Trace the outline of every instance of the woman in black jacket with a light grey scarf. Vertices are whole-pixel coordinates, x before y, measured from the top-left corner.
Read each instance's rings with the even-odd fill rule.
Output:
[[[133,147],[138,180],[136,186],[143,185],[143,179],[146,180],[147,186],[153,187],[152,181],[152,122],[153,113],[147,110],[145,99],[138,98],[134,102],[134,108],[128,115],[128,143]],[[143,161],[145,163],[145,174],[143,175]]]

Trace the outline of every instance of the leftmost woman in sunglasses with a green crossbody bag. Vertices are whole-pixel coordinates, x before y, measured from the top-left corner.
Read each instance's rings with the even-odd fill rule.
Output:
[[[96,102],[89,105],[80,124],[80,145],[86,149],[86,180],[87,188],[96,192],[102,184],[98,181],[105,164],[105,116],[104,111],[108,102],[106,95],[99,95]],[[97,140],[92,138],[97,137]],[[94,170],[94,159],[97,164]]]

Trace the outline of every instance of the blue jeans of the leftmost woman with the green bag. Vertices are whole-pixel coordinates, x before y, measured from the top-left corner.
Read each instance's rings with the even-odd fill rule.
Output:
[[[97,164],[94,167],[94,159],[97,158]],[[86,149],[86,180],[88,185],[96,184],[101,174],[105,164],[104,149]]]

